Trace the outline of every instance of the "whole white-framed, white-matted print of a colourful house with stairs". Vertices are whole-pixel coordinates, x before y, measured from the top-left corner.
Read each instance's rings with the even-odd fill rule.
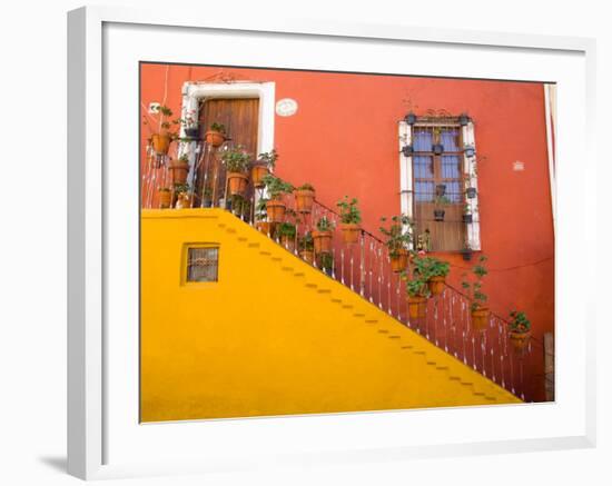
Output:
[[[593,52],[70,12],[69,472],[592,445]]]

